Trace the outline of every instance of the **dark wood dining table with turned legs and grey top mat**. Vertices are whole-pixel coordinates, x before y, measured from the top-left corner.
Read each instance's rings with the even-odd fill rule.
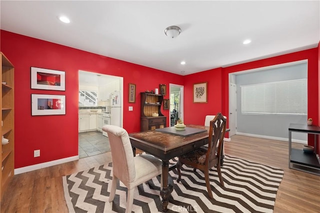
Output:
[[[205,126],[186,125],[184,131],[175,131],[175,127],[166,127],[129,134],[134,154],[136,148],[162,161],[162,189],[160,190],[162,212],[167,211],[168,198],[173,190],[173,181],[169,175],[169,169],[171,169],[169,160],[207,144],[208,129],[209,127]]]

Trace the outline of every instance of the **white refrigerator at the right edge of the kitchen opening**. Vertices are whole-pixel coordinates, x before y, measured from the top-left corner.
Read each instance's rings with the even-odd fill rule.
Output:
[[[119,91],[111,92],[110,95],[110,122],[111,125],[121,126],[121,95]]]

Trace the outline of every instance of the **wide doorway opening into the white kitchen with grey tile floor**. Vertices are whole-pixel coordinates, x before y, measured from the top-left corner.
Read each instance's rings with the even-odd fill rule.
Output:
[[[123,97],[123,77],[79,70],[78,80],[78,156],[85,158],[109,152],[109,141],[101,126],[104,117],[110,124],[113,119],[114,125],[123,126],[123,101],[120,98]],[[119,105],[112,117],[111,99],[115,92]]]

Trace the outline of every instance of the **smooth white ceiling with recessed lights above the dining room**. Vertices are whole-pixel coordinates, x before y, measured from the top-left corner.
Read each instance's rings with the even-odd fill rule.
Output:
[[[1,0],[0,27],[186,75],[316,47],[319,2]],[[181,28],[178,37],[165,36],[170,25]],[[243,45],[244,39],[252,42]]]

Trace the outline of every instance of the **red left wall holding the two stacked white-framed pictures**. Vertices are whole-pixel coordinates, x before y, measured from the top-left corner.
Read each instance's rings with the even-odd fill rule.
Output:
[[[78,155],[78,70],[123,77],[123,128],[140,130],[139,92],[159,84],[183,85],[183,76],[120,61],[35,38],[0,31],[0,47],[14,65],[14,168]],[[30,89],[30,67],[65,71],[65,91]],[[135,103],[128,103],[128,83],[136,84]],[[31,116],[31,93],[66,96],[66,114]],[[166,95],[164,98],[168,98]],[[128,111],[133,106],[133,111]],[[162,110],[167,116],[169,111]],[[54,135],[54,137],[50,137]],[[33,150],[40,157],[33,157]]]

